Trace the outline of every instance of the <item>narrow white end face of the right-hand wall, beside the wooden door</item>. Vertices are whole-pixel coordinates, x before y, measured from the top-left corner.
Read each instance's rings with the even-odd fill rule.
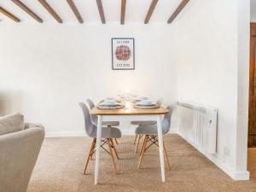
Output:
[[[238,0],[236,172],[247,170],[250,1]]]

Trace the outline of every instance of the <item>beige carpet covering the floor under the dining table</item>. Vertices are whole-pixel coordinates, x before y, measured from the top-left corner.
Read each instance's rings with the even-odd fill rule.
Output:
[[[147,151],[141,169],[138,155],[133,153],[134,137],[119,139],[119,175],[113,172],[110,156],[102,151],[100,184],[94,185],[94,164],[90,161],[88,174],[82,175],[90,138],[47,138],[32,174],[28,192],[256,192],[256,178],[232,181],[217,166],[177,135],[164,137],[172,164],[166,171],[166,183],[160,182],[159,154],[156,148]]]

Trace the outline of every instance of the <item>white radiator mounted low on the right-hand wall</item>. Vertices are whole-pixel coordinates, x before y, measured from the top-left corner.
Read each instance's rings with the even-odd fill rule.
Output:
[[[178,132],[202,153],[216,154],[218,109],[177,102]]]

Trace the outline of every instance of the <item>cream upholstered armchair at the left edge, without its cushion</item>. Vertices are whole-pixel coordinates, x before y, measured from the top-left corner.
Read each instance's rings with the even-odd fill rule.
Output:
[[[0,135],[0,192],[26,192],[43,141],[42,125]]]

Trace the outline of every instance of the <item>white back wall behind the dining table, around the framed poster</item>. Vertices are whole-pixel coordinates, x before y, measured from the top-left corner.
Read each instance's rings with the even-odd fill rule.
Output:
[[[113,71],[111,38],[135,38],[135,71]],[[0,24],[0,115],[20,111],[48,135],[84,132],[78,103],[130,88],[177,100],[166,24]]]

